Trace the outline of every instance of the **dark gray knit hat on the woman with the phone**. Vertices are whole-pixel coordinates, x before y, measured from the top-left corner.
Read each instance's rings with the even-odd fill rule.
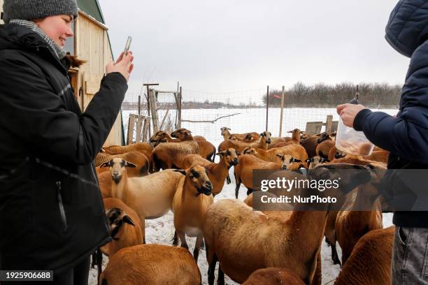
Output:
[[[76,0],[4,0],[3,21],[34,20],[55,15],[78,16]]]

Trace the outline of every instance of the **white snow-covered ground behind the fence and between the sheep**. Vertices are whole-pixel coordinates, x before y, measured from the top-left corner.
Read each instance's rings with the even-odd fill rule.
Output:
[[[394,115],[397,113],[397,110],[382,110],[383,112],[387,112],[390,115]],[[129,113],[134,113],[131,111],[123,111],[122,116],[125,123],[125,130],[127,130],[127,121],[129,117]],[[162,112],[161,112],[162,113]],[[236,133],[244,133],[248,131],[258,131],[262,132],[265,129],[266,124],[266,110],[264,109],[198,109],[198,110],[183,110],[183,119],[191,119],[191,120],[213,120],[217,117],[221,117],[224,115],[231,115],[235,113],[241,113],[240,115],[235,115],[233,117],[225,117],[223,119],[219,119],[213,124],[211,123],[183,123],[182,126],[184,128],[190,129],[194,135],[205,136],[213,145],[217,146],[222,141],[222,137],[220,136],[220,128],[222,126],[228,126],[232,129],[232,132]],[[279,129],[279,113],[280,110],[278,108],[271,108],[269,110],[269,130],[273,136],[278,136]],[[283,133],[285,131],[289,131],[294,128],[299,128],[304,130],[306,126],[306,122],[313,121],[322,121],[325,122],[325,118],[327,115],[333,115],[334,120],[338,119],[338,115],[336,114],[336,110],[333,108],[291,108],[285,109],[284,112],[284,120],[283,120]],[[162,115],[160,115],[162,118]],[[285,136],[285,135],[283,135]],[[215,201],[224,199],[224,198],[232,198],[234,199],[234,175],[233,168],[230,170],[231,184],[224,184],[224,188],[222,193],[215,196]],[[241,191],[239,193],[239,200],[244,200],[246,198],[246,189],[245,187],[241,187]],[[383,226],[391,226],[392,225],[392,214],[383,214]],[[173,214],[169,212],[164,217],[153,220],[145,221],[145,240],[147,243],[157,243],[157,244],[166,244],[172,245],[174,233],[173,226]],[[190,251],[193,252],[194,242],[196,238],[187,238],[187,243],[189,244]],[[338,247],[338,255],[341,258],[341,249]],[[339,273],[339,266],[333,265],[331,261],[331,250],[327,247],[325,242],[322,242],[321,249],[322,256],[322,284],[332,284],[331,280],[335,279]],[[108,262],[108,258],[104,256],[104,267]],[[204,250],[201,250],[201,254],[199,254],[199,270],[201,270],[202,275],[202,284],[208,284],[207,280],[207,272],[208,272],[208,263],[206,262],[206,254]],[[215,275],[217,278],[217,270],[215,270]],[[225,276],[226,284],[236,284],[231,281],[227,276]],[[97,269],[91,269],[90,271],[90,285],[97,284]]]

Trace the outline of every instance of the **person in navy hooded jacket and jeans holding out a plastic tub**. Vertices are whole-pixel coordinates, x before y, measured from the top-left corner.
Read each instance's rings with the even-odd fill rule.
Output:
[[[346,126],[364,131],[390,151],[389,169],[428,168],[428,1],[401,0],[390,15],[385,38],[410,57],[396,116],[343,104],[337,112]],[[392,284],[428,284],[428,212],[394,212]]]

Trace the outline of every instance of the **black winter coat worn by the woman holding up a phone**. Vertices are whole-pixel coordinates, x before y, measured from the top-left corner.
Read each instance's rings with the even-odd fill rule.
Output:
[[[0,26],[0,268],[61,272],[110,240],[92,161],[127,81],[110,73],[84,113],[43,39]]]

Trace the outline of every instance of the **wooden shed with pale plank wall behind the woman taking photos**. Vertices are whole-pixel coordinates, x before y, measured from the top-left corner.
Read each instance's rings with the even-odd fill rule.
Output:
[[[78,0],[79,16],[73,22],[74,36],[66,41],[65,50],[86,64],[80,68],[71,68],[71,85],[75,90],[80,109],[85,111],[94,94],[98,92],[104,68],[113,60],[113,52],[108,38],[101,7],[97,0]],[[3,0],[0,0],[0,12],[3,10]],[[3,24],[3,21],[0,20]],[[124,132],[121,113],[117,116],[113,129],[110,131],[105,146],[122,145]]]

